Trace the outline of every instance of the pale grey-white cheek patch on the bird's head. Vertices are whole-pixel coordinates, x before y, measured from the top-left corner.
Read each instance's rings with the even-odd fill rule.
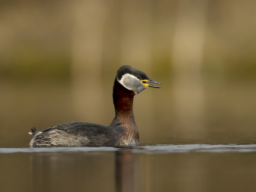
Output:
[[[144,84],[138,78],[134,77],[129,73],[124,74],[121,80],[117,79],[117,81],[126,89],[129,89],[134,92],[137,92],[139,86],[144,86]]]

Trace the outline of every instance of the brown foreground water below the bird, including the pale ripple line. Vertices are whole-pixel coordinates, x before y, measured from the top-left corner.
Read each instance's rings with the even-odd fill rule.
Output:
[[[256,144],[0,148],[0,191],[256,191]]]

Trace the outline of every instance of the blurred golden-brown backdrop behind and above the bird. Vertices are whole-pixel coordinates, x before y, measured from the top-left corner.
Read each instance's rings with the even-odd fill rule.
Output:
[[[135,96],[141,144],[255,143],[255,18],[251,0],[1,2],[0,147],[110,124],[122,65],[163,84]]]

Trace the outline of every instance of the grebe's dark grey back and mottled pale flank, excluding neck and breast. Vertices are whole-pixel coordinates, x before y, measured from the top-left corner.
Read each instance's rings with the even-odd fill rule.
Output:
[[[45,130],[32,130],[32,147],[41,146],[113,146],[117,141],[109,126],[93,123],[63,123]]]

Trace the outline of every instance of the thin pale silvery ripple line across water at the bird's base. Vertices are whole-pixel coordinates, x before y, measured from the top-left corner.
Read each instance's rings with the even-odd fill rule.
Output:
[[[43,148],[0,148],[0,154],[8,153],[42,153],[42,152],[100,152],[130,150],[134,153],[171,154],[171,153],[253,153],[256,144],[186,144],[186,145],[155,145],[138,147],[43,147]]]

